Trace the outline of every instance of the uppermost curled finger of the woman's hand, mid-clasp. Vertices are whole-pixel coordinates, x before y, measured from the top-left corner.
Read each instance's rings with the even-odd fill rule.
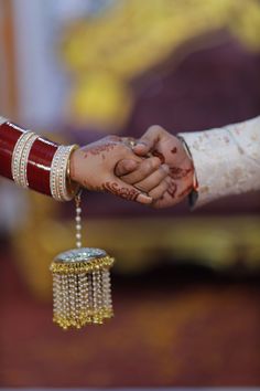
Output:
[[[158,157],[151,157],[142,160],[134,171],[121,176],[120,178],[126,183],[134,184],[151,176],[151,173],[159,169],[160,165],[161,160]]]

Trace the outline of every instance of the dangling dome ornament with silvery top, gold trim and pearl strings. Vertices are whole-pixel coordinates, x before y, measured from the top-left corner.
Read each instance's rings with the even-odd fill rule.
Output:
[[[112,317],[110,267],[115,258],[100,249],[82,247],[58,254],[53,274],[53,320],[62,328],[102,324]]]

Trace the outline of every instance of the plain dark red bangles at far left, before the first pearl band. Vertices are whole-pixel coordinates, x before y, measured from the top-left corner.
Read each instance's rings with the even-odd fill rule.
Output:
[[[0,126],[0,176],[12,179],[13,149],[24,131],[24,129],[9,121]]]

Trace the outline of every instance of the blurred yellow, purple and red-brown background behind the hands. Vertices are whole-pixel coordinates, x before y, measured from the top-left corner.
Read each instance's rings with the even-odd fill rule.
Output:
[[[258,0],[0,0],[0,114],[53,140],[260,114]],[[74,205],[0,180],[0,387],[260,385],[260,198],[191,212],[84,197],[116,317],[62,331],[48,265]]]

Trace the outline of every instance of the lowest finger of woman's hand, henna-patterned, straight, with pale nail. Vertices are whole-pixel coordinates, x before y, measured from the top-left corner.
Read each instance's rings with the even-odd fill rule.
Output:
[[[136,189],[133,186],[124,183],[119,178],[115,177],[111,181],[102,183],[102,189],[123,198],[129,201],[137,201],[140,203],[149,204],[152,202],[152,198],[148,194],[143,194],[140,190]]]

